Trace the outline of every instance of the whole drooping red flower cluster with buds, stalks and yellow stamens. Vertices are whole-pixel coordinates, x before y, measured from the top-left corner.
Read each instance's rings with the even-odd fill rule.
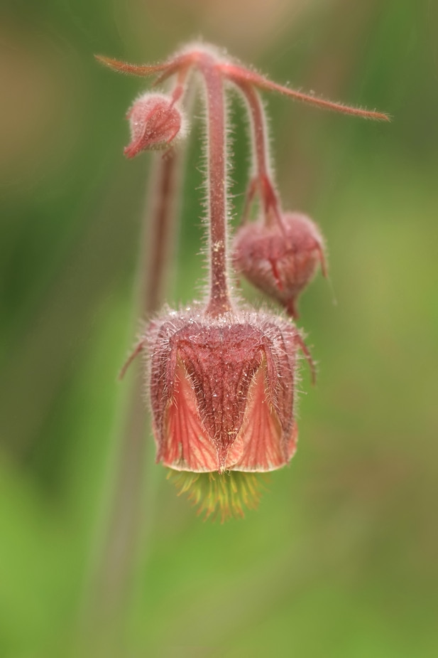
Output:
[[[207,107],[207,297],[184,310],[165,308],[150,320],[124,370],[140,352],[146,355],[157,461],[170,469],[180,492],[187,492],[207,516],[241,516],[243,506],[258,503],[263,489],[258,478],[283,467],[295,452],[298,351],[304,351],[311,365],[312,360],[291,319],[243,307],[232,294],[226,92],[234,85],[245,100],[253,151],[232,261],[292,317],[297,315],[297,296],[318,264],[325,271],[324,240],[310,218],[283,211],[273,183],[259,90],[350,115],[388,117],[272,83],[201,43],[158,65],[98,59],[122,73],[158,75],[155,84],[173,80],[165,94],[148,93],[134,102],[128,113],[128,157],[146,149],[173,148],[186,132],[182,107],[187,90],[198,80],[202,83]],[[253,222],[248,216],[256,198],[259,218]]]

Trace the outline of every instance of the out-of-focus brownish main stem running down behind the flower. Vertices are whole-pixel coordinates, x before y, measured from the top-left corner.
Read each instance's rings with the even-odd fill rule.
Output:
[[[138,268],[137,317],[147,319],[163,303],[168,283],[170,258],[176,230],[177,198],[181,187],[182,153],[154,154],[148,188],[148,201],[140,265]],[[146,549],[150,519],[145,499],[145,481],[150,464],[146,460],[148,411],[143,395],[143,364],[132,367],[124,397],[124,410],[117,438],[116,464],[100,525],[99,546],[94,558],[91,598],[87,607],[87,625],[97,639],[102,632],[110,643],[123,627],[124,610],[138,567],[140,548]],[[126,384],[125,384],[126,386]],[[111,632],[109,632],[111,630]]]

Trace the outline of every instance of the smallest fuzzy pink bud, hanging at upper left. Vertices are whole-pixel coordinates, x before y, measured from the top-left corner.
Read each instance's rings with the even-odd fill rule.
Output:
[[[173,99],[164,94],[143,94],[126,118],[131,126],[131,144],[124,149],[133,158],[148,149],[165,149],[176,137],[185,135],[185,120]]]

